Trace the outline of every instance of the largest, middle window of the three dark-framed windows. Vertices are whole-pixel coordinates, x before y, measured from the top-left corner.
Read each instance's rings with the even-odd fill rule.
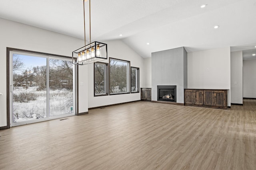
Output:
[[[130,93],[130,61],[109,59],[110,94]]]

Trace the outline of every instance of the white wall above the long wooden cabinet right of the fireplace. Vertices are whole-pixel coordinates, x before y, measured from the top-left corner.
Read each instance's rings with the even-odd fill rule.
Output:
[[[228,89],[230,102],[230,47],[188,53],[188,88]]]

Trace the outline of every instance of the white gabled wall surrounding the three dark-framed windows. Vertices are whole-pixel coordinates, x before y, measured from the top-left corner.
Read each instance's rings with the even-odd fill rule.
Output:
[[[128,47],[122,41],[108,41],[104,42],[108,44],[108,59],[122,59],[130,61],[130,66],[140,68],[140,87],[144,87],[144,59],[135,53],[130,47]],[[109,60],[101,61],[108,63]],[[124,102],[131,102],[140,100],[140,93],[132,94],[117,94],[109,96],[96,96],[94,97],[94,64],[88,64],[88,107],[99,107],[111,104],[118,104]]]

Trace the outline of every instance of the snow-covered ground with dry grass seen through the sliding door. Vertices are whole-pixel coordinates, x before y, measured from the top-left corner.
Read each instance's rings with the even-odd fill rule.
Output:
[[[13,92],[13,122],[47,117],[47,92],[37,91],[38,86],[16,87]],[[49,91],[50,116],[73,113],[73,91]]]

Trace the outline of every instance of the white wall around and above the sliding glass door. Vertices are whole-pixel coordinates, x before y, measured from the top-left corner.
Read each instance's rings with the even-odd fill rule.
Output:
[[[37,27],[0,18],[0,127],[6,126],[6,47],[38,51],[56,55],[72,56],[72,51],[84,46],[84,41],[74,37],[47,31]],[[84,68],[86,69],[86,68]],[[82,70],[82,69],[81,69]],[[82,77],[80,76],[82,79]],[[86,76],[84,80],[86,81]],[[79,112],[88,111],[87,86],[81,92]],[[85,99],[85,100],[84,100]]]

